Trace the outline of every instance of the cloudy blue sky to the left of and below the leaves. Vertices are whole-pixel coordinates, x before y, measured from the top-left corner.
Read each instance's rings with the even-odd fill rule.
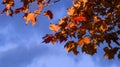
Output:
[[[26,26],[22,15],[0,16],[0,67],[119,67],[119,60],[104,59],[103,51],[94,56],[84,53],[74,56],[66,52],[63,44],[42,43],[42,37],[52,33],[50,22],[55,23],[63,17],[70,3],[66,0],[46,7],[54,12],[53,20],[41,14],[35,26]]]

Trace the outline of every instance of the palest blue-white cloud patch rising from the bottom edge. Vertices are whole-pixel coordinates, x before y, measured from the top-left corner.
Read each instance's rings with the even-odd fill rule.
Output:
[[[27,67],[100,67],[88,55],[82,55],[76,61],[73,57],[64,54],[64,52],[59,52],[59,50],[57,52],[61,54],[37,57]]]

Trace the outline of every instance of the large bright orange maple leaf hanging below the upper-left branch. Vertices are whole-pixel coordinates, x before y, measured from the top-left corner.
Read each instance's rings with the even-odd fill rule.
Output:
[[[36,24],[36,15],[34,13],[29,12],[25,14],[23,17],[26,20],[26,24],[30,22],[32,23],[33,26]]]

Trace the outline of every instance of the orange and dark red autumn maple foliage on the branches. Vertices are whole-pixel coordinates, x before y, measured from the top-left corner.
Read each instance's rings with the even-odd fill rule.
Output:
[[[46,6],[53,5],[60,0],[21,0],[22,7],[13,9],[14,0],[3,0],[5,8],[1,14],[8,16],[24,13],[26,24],[36,24],[36,17],[41,14]],[[35,3],[36,8],[29,9],[30,3]],[[54,13],[45,10],[44,16],[52,19]],[[97,53],[97,48],[106,42],[103,48],[104,58],[113,59],[115,55],[120,58],[120,0],[72,0],[72,7],[67,9],[67,16],[61,18],[58,23],[50,23],[49,29],[53,34],[43,37],[44,43],[65,42],[67,52],[82,52],[90,55]],[[115,45],[112,45],[112,42]]]

